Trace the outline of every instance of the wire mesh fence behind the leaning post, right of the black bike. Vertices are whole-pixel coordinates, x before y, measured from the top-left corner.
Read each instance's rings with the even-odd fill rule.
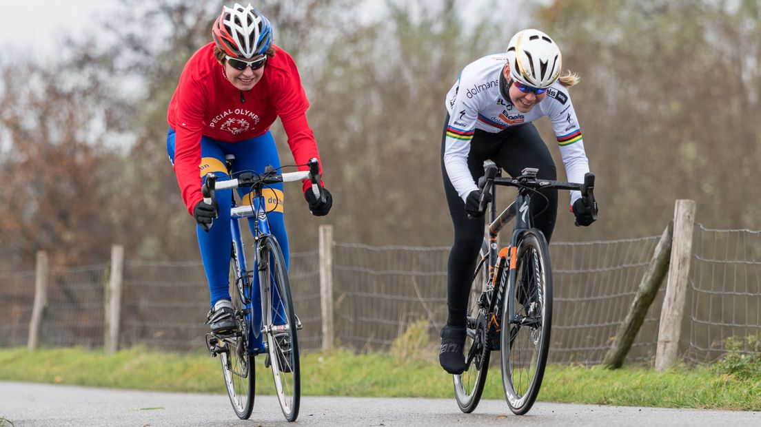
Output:
[[[553,293],[551,362],[602,362],[629,312],[660,238],[549,246]],[[630,362],[654,359],[663,297],[661,286],[629,350]]]

